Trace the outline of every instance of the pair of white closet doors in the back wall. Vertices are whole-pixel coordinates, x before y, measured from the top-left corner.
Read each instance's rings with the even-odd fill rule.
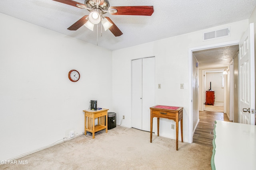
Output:
[[[132,61],[132,127],[150,131],[150,107],[155,105],[155,58]]]

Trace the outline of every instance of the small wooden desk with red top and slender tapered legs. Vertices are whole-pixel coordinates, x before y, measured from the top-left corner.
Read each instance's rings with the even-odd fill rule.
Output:
[[[150,143],[152,143],[153,117],[157,117],[157,136],[159,136],[159,118],[172,119],[176,122],[176,150],[179,141],[179,121],[181,130],[181,142],[183,142],[183,107],[161,106],[150,107]]]

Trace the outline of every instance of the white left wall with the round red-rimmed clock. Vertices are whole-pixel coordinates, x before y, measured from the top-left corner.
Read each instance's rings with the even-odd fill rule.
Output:
[[[112,109],[112,51],[1,13],[0,21],[0,160],[82,134],[90,100]]]

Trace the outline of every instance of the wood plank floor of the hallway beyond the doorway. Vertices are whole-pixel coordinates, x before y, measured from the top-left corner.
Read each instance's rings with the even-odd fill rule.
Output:
[[[212,111],[199,111],[199,123],[193,136],[193,143],[212,146],[214,121],[230,121],[226,113],[212,112]],[[230,121],[232,122],[232,121]]]

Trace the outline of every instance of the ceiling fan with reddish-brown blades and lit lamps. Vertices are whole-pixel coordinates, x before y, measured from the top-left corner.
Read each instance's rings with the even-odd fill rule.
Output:
[[[84,4],[73,0],[54,1],[86,9],[90,12],[89,15],[83,16],[68,27],[69,30],[75,31],[84,25],[93,31],[94,25],[101,22],[105,31],[109,29],[116,37],[122,35],[122,31],[109,17],[104,17],[104,14],[151,16],[154,12],[153,6],[110,6],[108,0],[85,0]]]

